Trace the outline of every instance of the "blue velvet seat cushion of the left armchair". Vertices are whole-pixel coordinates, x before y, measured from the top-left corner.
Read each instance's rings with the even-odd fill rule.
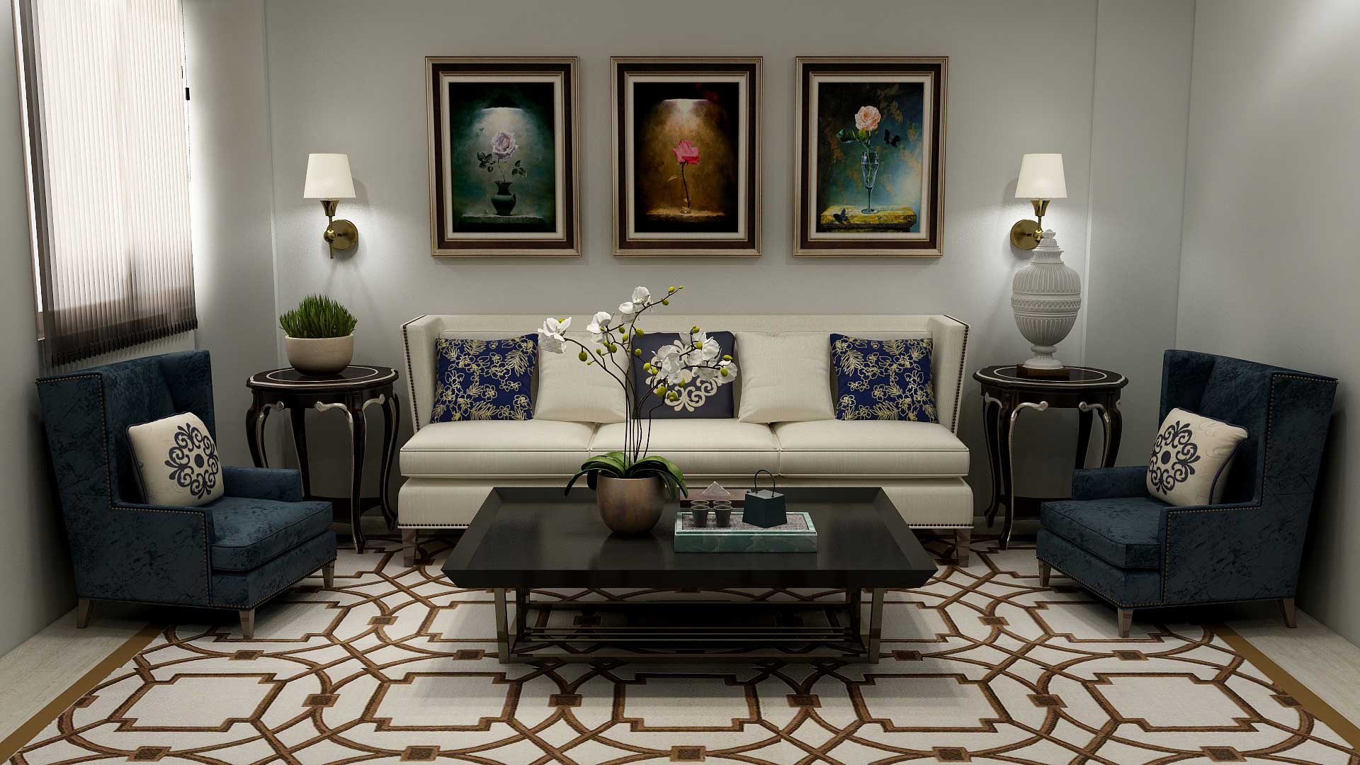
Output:
[[[246,572],[330,531],[330,502],[223,497],[212,513],[212,568]]]

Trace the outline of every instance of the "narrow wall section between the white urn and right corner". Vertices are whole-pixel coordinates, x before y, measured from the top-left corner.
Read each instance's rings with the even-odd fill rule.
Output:
[[[1148,460],[1161,353],[1175,344],[1193,37],[1194,3],[1100,1],[1085,351],[1087,363],[1132,380],[1119,464]]]

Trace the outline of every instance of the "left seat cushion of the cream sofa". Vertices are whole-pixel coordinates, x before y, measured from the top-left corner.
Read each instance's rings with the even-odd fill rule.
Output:
[[[571,475],[594,427],[551,419],[435,422],[401,446],[401,475]]]

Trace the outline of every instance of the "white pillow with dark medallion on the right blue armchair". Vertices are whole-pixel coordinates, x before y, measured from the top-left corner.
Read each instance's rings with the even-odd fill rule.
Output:
[[[1232,456],[1246,437],[1236,425],[1171,410],[1152,442],[1148,493],[1178,508],[1219,502]]]

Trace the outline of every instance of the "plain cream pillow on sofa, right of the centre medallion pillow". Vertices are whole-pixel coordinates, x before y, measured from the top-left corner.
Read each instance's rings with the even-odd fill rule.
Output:
[[[830,332],[737,332],[741,422],[835,419]]]

